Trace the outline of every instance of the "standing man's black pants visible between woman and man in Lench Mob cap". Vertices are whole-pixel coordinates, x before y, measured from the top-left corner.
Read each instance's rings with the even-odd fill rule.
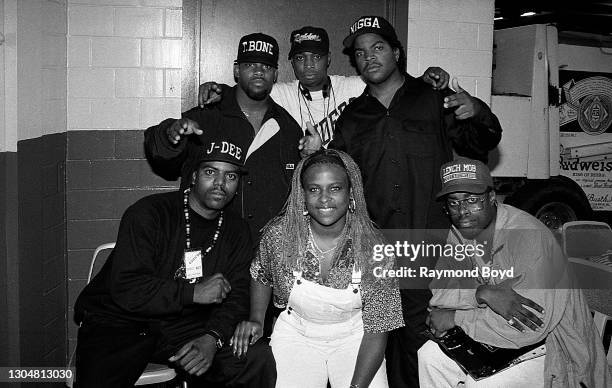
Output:
[[[417,350],[426,341],[420,335],[427,329],[427,306],[431,299],[429,290],[400,290],[402,311],[406,326],[389,333],[385,357],[389,388],[419,388],[419,363]]]

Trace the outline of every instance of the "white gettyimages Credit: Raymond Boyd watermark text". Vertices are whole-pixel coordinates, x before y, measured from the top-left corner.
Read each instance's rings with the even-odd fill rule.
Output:
[[[395,244],[376,244],[373,247],[372,259],[383,262],[385,259],[409,260],[414,262],[417,258],[434,258],[438,260],[454,259],[462,262],[471,260],[469,264],[462,265],[460,269],[432,269],[428,266],[399,266],[387,268],[383,265],[374,266],[373,273],[377,278],[495,278],[499,281],[514,277],[514,267],[509,269],[493,268],[483,265],[482,257],[486,252],[486,244],[450,244],[426,243],[421,241],[414,244],[408,241],[396,241]],[[466,268],[469,267],[469,268]]]

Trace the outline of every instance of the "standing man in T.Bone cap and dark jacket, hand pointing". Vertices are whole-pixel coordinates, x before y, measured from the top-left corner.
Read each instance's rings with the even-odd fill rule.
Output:
[[[167,119],[145,132],[147,158],[166,179],[182,176],[183,161],[210,136],[226,136],[246,154],[249,174],[230,206],[249,224],[253,240],[282,208],[293,169],[300,160],[302,131],[272,98],[276,82],[278,43],[266,34],[243,36],[234,63],[236,85],[219,103],[195,107],[179,120]]]

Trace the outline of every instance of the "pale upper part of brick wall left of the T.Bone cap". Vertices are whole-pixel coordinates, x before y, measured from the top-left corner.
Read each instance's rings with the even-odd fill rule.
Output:
[[[181,1],[68,4],[68,130],[143,129],[180,113]]]

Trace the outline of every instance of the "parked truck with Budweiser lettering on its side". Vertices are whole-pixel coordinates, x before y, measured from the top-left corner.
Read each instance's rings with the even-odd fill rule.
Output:
[[[558,229],[612,211],[612,49],[552,25],[494,33],[491,108],[504,129],[496,191]]]

